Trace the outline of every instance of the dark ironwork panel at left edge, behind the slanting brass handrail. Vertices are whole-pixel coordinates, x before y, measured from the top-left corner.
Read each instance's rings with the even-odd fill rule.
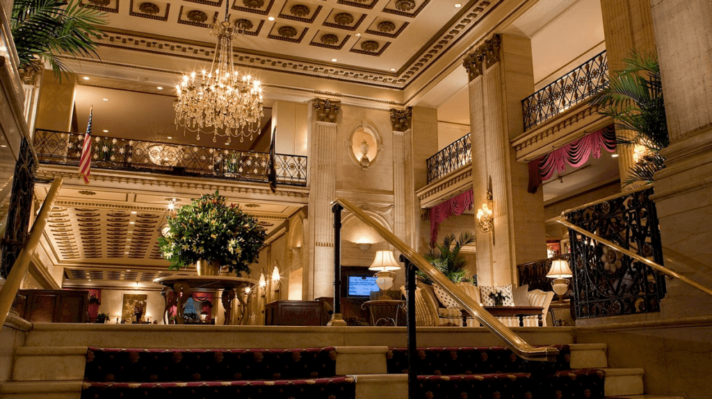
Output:
[[[37,164],[32,155],[32,147],[27,139],[23,138],[20,157],[15,164],[5,236],[1,242],[0,275],[4,278],[10,273],[29,235],[36,172]]]

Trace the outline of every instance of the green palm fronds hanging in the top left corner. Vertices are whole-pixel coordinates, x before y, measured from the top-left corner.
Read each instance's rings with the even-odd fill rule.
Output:
[[[94,40],[101,35],[98,26],[105,25],[105,15],[79,0],[15,0],[11,31],[20,70],[37,70],[38,61],[48,62],[60,77],[68,72],[61,54],[98,57]]]

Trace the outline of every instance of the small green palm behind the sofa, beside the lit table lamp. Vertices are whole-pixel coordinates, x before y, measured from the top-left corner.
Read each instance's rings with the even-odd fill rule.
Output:
[[[463,231],[458,239],[455,239],[455,234],[450,234],[443,239],[442,244],[436,244],[435,248],[428,251],[424,258],[453,283],[468,282],[471,279],[466,278],[467,261],[460,256],[460,251],[463,246],[473,242],[475,242],[475,236],[471,231]],[[432,284],[432,281],[424,273],[418,272],[418,275],[426,283]]]

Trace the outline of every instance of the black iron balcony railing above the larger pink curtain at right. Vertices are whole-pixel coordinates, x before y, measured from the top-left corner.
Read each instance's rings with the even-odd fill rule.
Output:
[[[607,85],[608,62],[606,52],[603,51],[547,87],[523,99],[524,130],[527,131],[584,102]]]

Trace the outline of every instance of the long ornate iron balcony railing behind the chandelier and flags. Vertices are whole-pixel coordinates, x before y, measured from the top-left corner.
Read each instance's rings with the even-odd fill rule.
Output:
[[[83,137],[78,133],[38,129],[34,141],[37,158],[40,163],[79,165]],[[103,136],[92,138],[92,168],[267,182],[267,153]],[[275,165],[278,184],[306,185],[306,157],[276,154]]]

